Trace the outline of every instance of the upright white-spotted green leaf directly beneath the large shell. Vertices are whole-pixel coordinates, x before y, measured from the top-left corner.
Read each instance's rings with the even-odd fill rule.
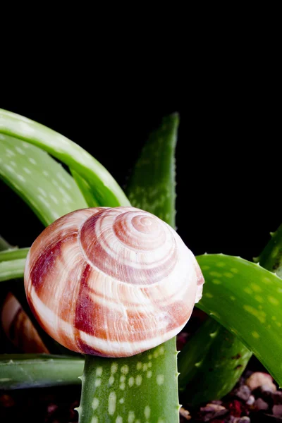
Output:
[[[176,355],[167,342],[118,360],[85,356],[80,422],[178,422]]]

